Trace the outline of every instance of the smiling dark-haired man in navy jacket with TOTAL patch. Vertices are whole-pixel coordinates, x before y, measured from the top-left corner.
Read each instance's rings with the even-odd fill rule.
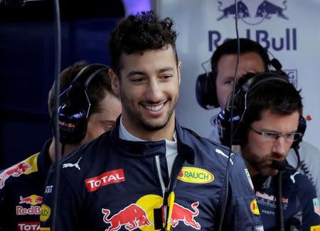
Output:
[[[227,168],[228,150],[176,121],[181,61],[172,25],[149,11],[115,28],[109,73],[122,115],[62,161],[81,159],[81,170],[61,168],[60,213],[56,220],[45,213],[53,187],[44,195],[43,230],[51,222],[57,230],[218,230],[220,223],[222,230],[261,230],[241,156],[233,154]]]

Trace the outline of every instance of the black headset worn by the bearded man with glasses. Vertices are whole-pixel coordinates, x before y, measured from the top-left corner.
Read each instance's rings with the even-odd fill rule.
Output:
[[[241,126],[242,117],[247,109],[247,94],[255,87],[269,81],[290,83],[288,76],[284,72],[262,72],[250,77],[250,79],[243,84],[239,84],[235,91],[234,100],[235,102],[239,102],[240,105],[243,105],[243,109],[240,110],[237,107],[233,107],[233,117],[231,118],[231,107],[228,107],[221,111],[217,117],[218,134],[222,144],[226,146],[229,146],[230,144],[231,123],[233,123],[233,127],[235,128],[233,130],[232,144],[239,145],[242,143],[241,137],[245,134],[240,134],[239,127]],[[304,117],[300,117],[297,132],[304,134],[305,131],[306,119],[304,119]],[[292,148],[298,146],[300,141],[302,141],[302,137],[298,141],[293,142]]]

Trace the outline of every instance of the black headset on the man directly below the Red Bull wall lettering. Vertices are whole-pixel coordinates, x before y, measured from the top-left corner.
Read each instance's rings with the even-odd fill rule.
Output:
[[[250,43],[256,43],[255,41],[249,41]],[[282,65],[276,58],[272,55],[272,60],[270,60],[267,49],[260,47],[257,43],[257,50],[248,50],[247,53],[254,52],[259,53],[261,57],[267,58],[267,70],[274,68],[275,70],[281,70]],[[246,53],[244,52],[244,53]],[[231,55],[236,55],[236,53],[230,53]],[[228,55],[226,53],[225,55]],[[211,58],[212,59],[212,58]],[[264,61],[265,62],[265,61]],[[213,69],[214,67],[211,67]],[[214,73],[214,74],[213,74]],[[213,109],[219,107],[216,85],[215,85],[215,76],[217,70],[211,70],[211,72],[206,72],[204,74],[198,75],[196,80],[196,99],[198,104],[204,109]]]

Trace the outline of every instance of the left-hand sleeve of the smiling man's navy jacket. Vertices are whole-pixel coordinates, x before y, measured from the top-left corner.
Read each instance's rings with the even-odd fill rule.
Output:
[[[43,204],[41,205],[41,229],[55,227],[55,230],[81,230],[79,223],[80,200],[71,186],[68,178],[60,170],[59,181],[56,181],[56,168],[50,167],[46,179],[45,193],[43,195]],[[58,186],[58,187],[57,187]],[[58,189],[58,200],[55,201],[55,191]],[[53,217],[53,209],[56,215]]]

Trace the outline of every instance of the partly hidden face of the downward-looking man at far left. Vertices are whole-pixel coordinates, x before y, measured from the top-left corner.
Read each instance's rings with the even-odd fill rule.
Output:
[[[97,136],[114,127],[116,119],[122,111],[120,100],[110,95],[110,93],[107,93],[102,102],[100,102],[100,107],[102,109],[101,112],[90,115],[87,122],[87,134],[85,134],[81,144],[97,138]]]

